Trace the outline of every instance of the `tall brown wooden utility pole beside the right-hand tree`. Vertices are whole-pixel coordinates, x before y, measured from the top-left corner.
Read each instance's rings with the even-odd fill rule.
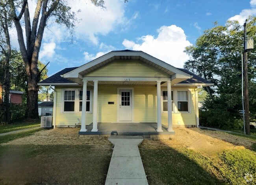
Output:
[[[250,118],[249,118],[249,88],[248,88],[248,64],[247,64],[247,50],[245,48],[245,42],[246,42],[246,37],[247,37],[247,32],[246,32],[246,22],[247,19],[245,20],[245,23],[243,24],[243,67],[244,67],[244,72],[245,72],[245,133],[247,135],[250,135]]]

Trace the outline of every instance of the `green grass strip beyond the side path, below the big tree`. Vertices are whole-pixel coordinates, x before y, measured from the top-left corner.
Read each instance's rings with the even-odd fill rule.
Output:
[[[35,120],[33,122],[18,122],[9,125],[0,125],[0,133],[11,132],[15,130],[21,130],[26,128],[34,128],[40,126],[40,121]]]

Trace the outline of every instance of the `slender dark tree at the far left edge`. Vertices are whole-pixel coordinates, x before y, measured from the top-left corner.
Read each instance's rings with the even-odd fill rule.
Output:
[[[9,35],[9,28],[11,27],[11,20],[9,17],[10,7],[7,1],[0,0],[0,52],[2,53],[0,66],[1,78],[0,85],[3,89],[3,103],[0,104],[0,119],[4,124],[9,124],[10,115],[10,57],[11,57],[11,41]],[[2,95],[2,94],[1,94]]]

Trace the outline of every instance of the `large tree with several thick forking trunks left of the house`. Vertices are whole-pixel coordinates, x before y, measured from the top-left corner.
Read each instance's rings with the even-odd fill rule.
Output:
[[[127,0],[124,0],[126,2]],[[33,20],[30,19],[28,0],[11,2],[12,19],[17,30],[20,52],[26,68],[28,83],[28,118],[38,118],[38,86],[39,70],[37,68],[38,55],[47,24],[63,24],[68,29],[74,28],[75,13],[71,11],[68,0],[37,0]],[[104,0],[91,0],[95,6],[104,7]],[[86,5],[85,5],[86,6]],[[41,16],[40,16],[41,15]],[[26,38],[23,37],[22,23]]]

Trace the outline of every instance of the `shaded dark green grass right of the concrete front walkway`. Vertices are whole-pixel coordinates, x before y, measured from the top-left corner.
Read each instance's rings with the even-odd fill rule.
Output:
[[[200,154],[191,151],[181,153],[168,147],[139,148],[149,184],[215,185],[221,183],[194,161],[196,157],[205,168],[208,168],[209,160]]]

